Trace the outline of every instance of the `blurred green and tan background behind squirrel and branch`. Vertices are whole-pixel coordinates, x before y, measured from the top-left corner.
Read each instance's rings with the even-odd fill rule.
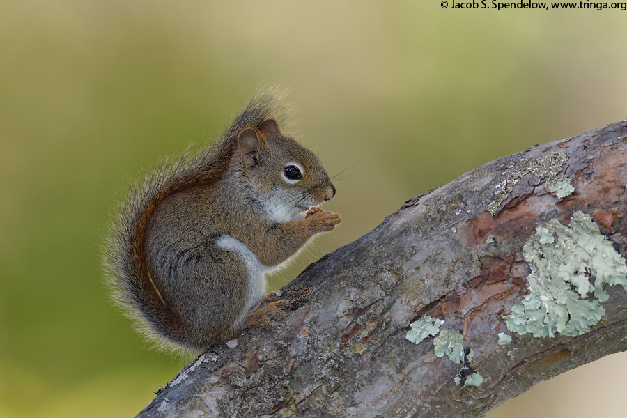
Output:
[[[330,174],[350,167],[327,206],[343,224],[277,288],[414,194],[627,118],[626,22],[436,0],[0,1],[0,417],[130,417],[185,364],[111,306],[108,213],[260,84],[291,88],[290,131]],[[622,416],[626,368],[607,357],[489,417]]]

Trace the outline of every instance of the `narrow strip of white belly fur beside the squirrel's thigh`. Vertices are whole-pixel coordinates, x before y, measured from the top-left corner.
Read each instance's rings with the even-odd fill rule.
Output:
[[[219,248],[230,249],[234,251],[246,265],[248,272],[248,295],[244,311],[233,323],[234,327],[239,327],[248,311],[265,295],[265,273],[272,270],[272,267],[264,265],[259,258],[244,242],[233,238],[231,235],[222,235],[215,241],[215,245]]]

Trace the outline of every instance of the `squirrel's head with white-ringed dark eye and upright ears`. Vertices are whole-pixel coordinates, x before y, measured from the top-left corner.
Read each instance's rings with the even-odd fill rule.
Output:
[[[335,187],[318,157],[294,139],[281,134],[274,119],[238,134],[242,178],[274,222],[302,219],[312,206],[335,196]]]

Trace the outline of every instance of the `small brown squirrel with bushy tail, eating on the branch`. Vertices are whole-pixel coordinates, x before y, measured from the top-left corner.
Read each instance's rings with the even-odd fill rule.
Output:
[[[257,93],[195,157],[158,170],[121,204],[104,263],[114,301],[157,346],[198,353],[286,305],[265,274],[342,219],[320,210],[335,187],[277,123],[281,98]]]

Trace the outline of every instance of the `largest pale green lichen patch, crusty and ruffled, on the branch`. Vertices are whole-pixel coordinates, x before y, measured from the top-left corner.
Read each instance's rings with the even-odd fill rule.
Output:
[[[625,259],[590,215],[575,212],[569,226],[553,219],[523,247],[532,272],[529,294],[505,316],[507,328],[536,337],[577,336],[605,315],[605,284],[627,290]]]

